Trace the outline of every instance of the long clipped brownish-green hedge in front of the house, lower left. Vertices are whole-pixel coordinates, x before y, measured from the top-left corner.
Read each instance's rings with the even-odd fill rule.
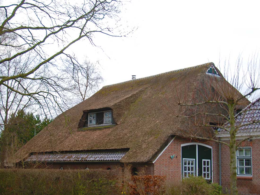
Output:
[[[3,195],[112,195],[117,191],[112,171],[0,169]]]

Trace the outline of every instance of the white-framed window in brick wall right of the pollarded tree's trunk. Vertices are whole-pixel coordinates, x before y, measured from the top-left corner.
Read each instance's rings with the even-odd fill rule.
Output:
[[[237,175],[252,176],[251,147],[237,149]]]

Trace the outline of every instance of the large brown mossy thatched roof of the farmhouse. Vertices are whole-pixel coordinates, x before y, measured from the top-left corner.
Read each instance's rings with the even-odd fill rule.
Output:
[[[181,109],[176,97],[201,98],[194,92],[212,80],[211,75],[205,74],[211,66],[214,64],[206,63],[105,86],[57,116],[48,128],[17,152],[15,161],[32,152],[129,148],[121,162],[152,162],[173,135],[186,136],[183,132],[197,129],[198,132],[206,130],[210,136],[211,128],[198,129],[187,119],[176,117]],[[78,129],[83,110],[105,107],[113,110],[117,125]],[[212,106],[205,108],[223,112]]]

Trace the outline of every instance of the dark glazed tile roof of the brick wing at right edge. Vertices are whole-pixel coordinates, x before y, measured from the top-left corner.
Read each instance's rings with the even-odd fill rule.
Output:
[[[260,98],[238,113],[236,125],[242,126],[238,133],[260,132]],[[252,123],[252,124],[250,124]],[[246,125],[248,124],[248,125]]]

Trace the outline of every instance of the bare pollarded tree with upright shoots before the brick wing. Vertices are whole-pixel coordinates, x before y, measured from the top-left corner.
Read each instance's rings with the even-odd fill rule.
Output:
[[[212,65],[211,68],[215,69],[215,66]],[[244,67],[243,61],[239,57],[236,67],[231,68],[229,62],[225,62],[224,69],[223,75],[217,69],[216,74],[206,75],[204,80],[199,83],[200,86],[197,90],[194,90],[191,97],[186,95],[189,86],[185,86],[182,92],[176,88],[177,95],[174,95],[174,99],[178,101],[181,110],[176,116],[186,118],[187,121],[198,127],[194,131],[182,131],[186,137],[219,142],[229,148],[230,190],[233,195],[238,194],[236,186],[236,151],[243,141],[256,137],[249,130],[244,129],[247,135],[246,138],[238,138],[237,132],[248,125],[260,123],[254,117],[243,123],[237,122],[237,118],[240,118],[239,121],[243,121],[245,113],[248,117],[248,112],[250,112],[248,109],[243,109],[250,103],[246,98],[260,89],[259,62],[257,61],[257,57],[255,57]],[[232,71],[230,72],[231,69]],[[240,92],[245,86],[247,88],[241,94]],[[237,114],[238,112],[239,114]],[[209,131],[209,127],[215,129],[215,131],[213,129]],[[219,135],[223,134],[229,136],[229,141],[222,141],[218,138]]]

